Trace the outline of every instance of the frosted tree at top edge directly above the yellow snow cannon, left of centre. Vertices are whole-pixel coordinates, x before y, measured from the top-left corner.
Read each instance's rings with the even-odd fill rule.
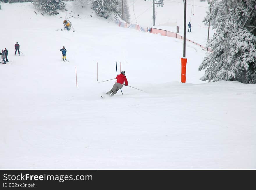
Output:
[[[62,10],[66,4],[61,0],[34,0],[33,4],[36,9],[47,13],[48,15],[57,15],[58,9]]]

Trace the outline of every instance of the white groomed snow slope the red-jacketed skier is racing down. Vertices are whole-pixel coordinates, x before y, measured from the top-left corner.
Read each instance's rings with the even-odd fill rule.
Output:
[[[0,65],[0,169],[256,169],[255,84],[200,81],[205,51],[188,42],[181,83],[182,40],[66,3],[56,16],[1,3],[0,45],[13,62]],[[76,32],[60,30],[66,15]],[[24,55],[14,56],[16,41]],[[115,61],[147,92],[100,98]]]

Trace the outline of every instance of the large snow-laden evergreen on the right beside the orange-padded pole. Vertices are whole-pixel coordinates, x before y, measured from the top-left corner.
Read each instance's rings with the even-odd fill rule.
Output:
[[[204,81],[233,80],[256,83],[256,1],[221,0],[208,17],[214,20],[216,33],[207,47],[212,52],[199,70]]]

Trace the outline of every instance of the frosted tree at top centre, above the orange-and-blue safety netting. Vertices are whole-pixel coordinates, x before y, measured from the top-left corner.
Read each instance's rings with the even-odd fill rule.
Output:
[[[95,10],[97,15],[105,18],[109,17],[110,14],[120,15],[118,10],[119,0],[92,0],[92,8]]]

